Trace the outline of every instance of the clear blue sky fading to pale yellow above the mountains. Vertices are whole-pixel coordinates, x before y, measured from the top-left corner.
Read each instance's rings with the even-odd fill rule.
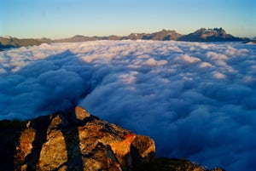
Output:
[[[255,0],[0,0],[0,36],[125,36],[223,27],[256,37]]]

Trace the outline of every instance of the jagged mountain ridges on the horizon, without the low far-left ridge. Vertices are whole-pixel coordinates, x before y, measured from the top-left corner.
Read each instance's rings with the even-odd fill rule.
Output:
[[[94,40],[158,40],[158,41],[187,41],[187,42],[223,42],[223,41],[245,41],[248,38],[234,37],[227,34],[223,28],[205,29],[201,28],[188,35],[182,35],[176,31],[162,30],[154,33],[131,33],[125,37],[109,36],[109,37],[84,37],[77,35],[75,37],[57,39],[55,43],[73,43]]]

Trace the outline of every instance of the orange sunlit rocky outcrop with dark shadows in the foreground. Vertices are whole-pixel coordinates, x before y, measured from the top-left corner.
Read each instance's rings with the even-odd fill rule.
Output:
[[[193,162],[155,159],[154,140],[107,123],[81,107],[27,122],[0,122],[3,170],[205,170]]]

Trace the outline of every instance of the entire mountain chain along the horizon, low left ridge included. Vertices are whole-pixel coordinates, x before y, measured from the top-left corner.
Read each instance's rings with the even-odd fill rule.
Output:
[[[224,42],[224,41],[249,41],[247,37],[234,37],[227,34],[223,28],[206,29],[201,28],[188,35],[182,35],[176,31],[162,30],[154,33],[131,33],[125,37],[108,36],[108,37],[86,37],[77,35],[70,38],[54,39],[18,39],[15,37],[0,37],[0,49],[19,48],[23,46],[39,45],[41,43],[76,43],[96,40],[158,40],[158,41],[186,41],[186,42]]]

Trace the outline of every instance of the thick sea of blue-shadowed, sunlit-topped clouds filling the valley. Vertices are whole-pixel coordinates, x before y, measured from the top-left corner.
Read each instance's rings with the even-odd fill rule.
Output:
[[[146,134],[157,156],[256,168],[256,46],[96,41],[0,52],[0,119],[81,105]]]

